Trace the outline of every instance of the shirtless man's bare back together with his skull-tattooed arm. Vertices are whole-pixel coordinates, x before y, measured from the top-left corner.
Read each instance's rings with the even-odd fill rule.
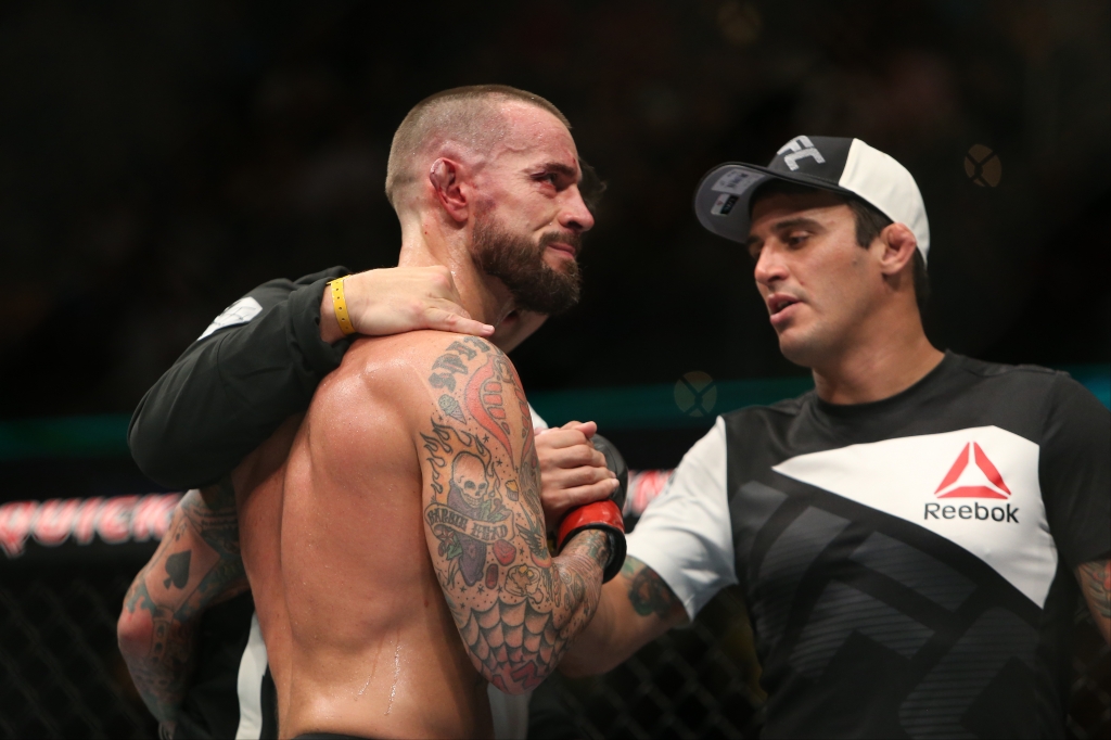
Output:
[[[589,622],[609,540],[552,558],[528,402],[488,342],[361,339],[233,477],[283,737],[491,737]]]

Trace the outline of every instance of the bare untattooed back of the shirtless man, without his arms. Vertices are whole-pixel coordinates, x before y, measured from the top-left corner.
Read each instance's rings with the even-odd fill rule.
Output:
[[[426,543],[406,341],[356,342],[233,477],[282,737],[492,734]]]

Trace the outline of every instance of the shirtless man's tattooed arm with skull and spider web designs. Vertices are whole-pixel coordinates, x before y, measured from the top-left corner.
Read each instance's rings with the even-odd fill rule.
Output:
[[[588,530],[549,554],[532,422],[513,366],[480,339],[438,341],[430,408],[414,420],[424,534],[476,670],[521,693],[551,673],[590,621],[608,539]]]

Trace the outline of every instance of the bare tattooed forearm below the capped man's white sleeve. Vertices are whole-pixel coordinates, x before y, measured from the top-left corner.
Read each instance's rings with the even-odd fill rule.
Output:
[[[660,576],[633,557],[602,588],[598,613],[568,651],[560,670],[581,677],[604,673],[668,630],[687,610]]]

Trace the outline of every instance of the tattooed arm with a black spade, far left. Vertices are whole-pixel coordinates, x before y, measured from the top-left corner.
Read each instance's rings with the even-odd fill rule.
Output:
[[[197,618],[247,590],[231,486],[186,493],[117,624],[120,652],[159,721],[176,720],[193,668]]]

